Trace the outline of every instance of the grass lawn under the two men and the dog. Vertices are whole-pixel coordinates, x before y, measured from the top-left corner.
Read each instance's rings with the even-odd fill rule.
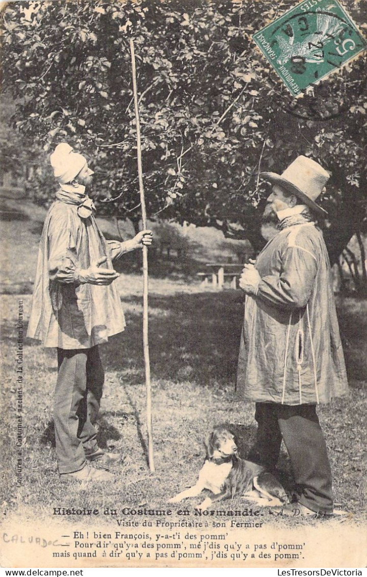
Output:
[[[13,226],[13,224],[12,224]],[[17,227],[19,232],[19,227]],[[6,246],[7,266],[30,271],[37,243],[26,254],[19,233]],[[25,233],[24,233],[25,235]],[[2,258],[5,258],[2,255]],[[12,274],[13,272],[10,271]],[[27,272],[27,275],[31,273]],[[13,277],[14,278],[14,277]],[[19,276],[18,276],[19,278]],[[31,278],[28,276],[28,278]],[[118,451],[123,463],[115,467],[116,481],[108,485],[60,484],[55,459],[52,397],[56,381],[56,354],[25,339],[22,382],[22,484],[17,486],[17,318],[24,306],[24,335],[31,305],[30,294],[4,294],[2,314],[2,518],[37,519],[47,523],[54,507],[168,508],[167,499],[191,485],[203,462],[203,438],[213,426],[236,426],[240,451],[245,455],[255,434],[254,405],[240,402],[234,392],[243,298],[241,291],[220,293],[203,289],[187,279],[152,278],[150,281],[150,356],[153,387],[153,434],[156,473],[147,467],[145,377],[142,353],[142,280],[122,274],[118,280],[127,328],[101,346],[105,388],[99,417],[101,447]],[[14,281],[13,281],[14,283]],[[13,291],[14,292],[14,291]],[[28,292],[28,291],[27,291]],[[365,301],[338,302],[345,342],[350,395],[319,408],[334,474],[335,500],[350,512],[347,523],[364,527],[366,462],[365,383],[367,380],[367,306]],[[292,489],[292,474],[285,449],[279,466],[285,485]],[[189,500],[191,511],[201,501]],[[220,509],[251,508],[233,499]],[[169,505],[174,514],[183,505]],[[268,527],[316,526],[338,520],[276,518],[263,513]],[[73,523],[75,518],[63,518]],[[93,519],[83,519],[84,526]],[[70,565],[71,566],[71,565]],[[316,566],[316,565],[315,565]],[[317,565],[320,566],[320,565]]]

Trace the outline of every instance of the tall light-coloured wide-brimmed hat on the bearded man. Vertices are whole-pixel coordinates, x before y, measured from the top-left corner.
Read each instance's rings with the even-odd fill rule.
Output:
[[[319,207],[315,200],[323,192],[330,174],[315,160],[307,156],[298,156],[282,174],[260,173],[260,177],[295,194],[302,203],[320,215],[327,215],[326,210]]]

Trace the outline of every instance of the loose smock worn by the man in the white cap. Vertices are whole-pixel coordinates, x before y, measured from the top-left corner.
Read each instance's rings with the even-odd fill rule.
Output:
[[[78,206],[56,200],[40,239],[27,336],[45,347],[89,349],[123,331],[126,323],[115,281],[78,284],[75,270],[101,257],[103,268],[123,254],[122,243],[106,241],[94,216],[82,219]]]

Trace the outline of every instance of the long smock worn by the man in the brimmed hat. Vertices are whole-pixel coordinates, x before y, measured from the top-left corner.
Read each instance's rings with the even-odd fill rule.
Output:
[[[237,390],[255,402],[325,403],[347,392],[345,362],[323,235],[290,226],[256,260],[246,296]]]

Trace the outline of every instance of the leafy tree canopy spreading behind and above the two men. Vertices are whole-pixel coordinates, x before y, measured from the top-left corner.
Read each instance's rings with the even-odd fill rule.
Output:
[[[349,0],[356,21],[365,6]],[[104,212],[137,226],[133,36],[150,218],[215,226],[260,248],[259,171],[303,153],[332,172],[324,206],[335,261],[366,223],[366,62],[294,99],[251,40],[277,16],[271,0],[9,4],[3,86],[15,125],[46,152],[62,140],[87,151]]]

